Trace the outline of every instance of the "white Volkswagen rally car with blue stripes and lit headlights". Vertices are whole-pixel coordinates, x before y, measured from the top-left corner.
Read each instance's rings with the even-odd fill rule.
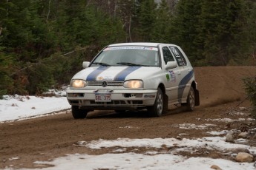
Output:
[[[193,67],[174,44],[111,44],[82,66],[67,90],[75,119],[102,109],[161,116],[170,103],[189,111],[200,104]]]

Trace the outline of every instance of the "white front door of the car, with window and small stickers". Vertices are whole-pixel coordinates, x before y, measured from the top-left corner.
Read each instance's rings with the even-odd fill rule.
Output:
[[[163,64],[166,65],[168,61],[175,61],[174,55],[172,55],[169,47],[164,46],[161,48],[163,53]],[[165,72],[165,89],[166,95],[171,102],[177,101],[178,88],[180,83],[180,67],[174,69],[163,69]]]

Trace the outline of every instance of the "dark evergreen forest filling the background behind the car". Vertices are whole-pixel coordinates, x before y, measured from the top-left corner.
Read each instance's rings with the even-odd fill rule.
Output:
[[[163,42],[194,67],[256,65],[254,0],[0,0],[0,96],[68,84],[107,44]]]

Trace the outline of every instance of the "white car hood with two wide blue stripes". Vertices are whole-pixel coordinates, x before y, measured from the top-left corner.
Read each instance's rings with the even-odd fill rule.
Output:
[[[149,78],[160,72],[160,67],[88,67],[77,72],[72,79],[85,81],[126,81]]]

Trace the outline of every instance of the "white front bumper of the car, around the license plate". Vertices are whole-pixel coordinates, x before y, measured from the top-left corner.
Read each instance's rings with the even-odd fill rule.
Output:
[[[111,101],[96,101],[96,94],[111,95]],[[154,105],[156,96],[157,89],[67,90],[68,102],[79,109],[139,109]]]

